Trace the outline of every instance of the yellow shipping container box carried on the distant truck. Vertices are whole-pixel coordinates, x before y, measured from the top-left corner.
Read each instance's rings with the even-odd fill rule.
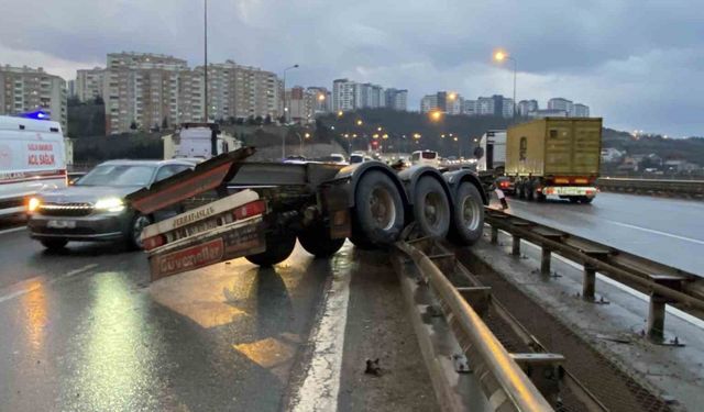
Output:
[[[598,176],[602,119],[546,118],[508,127],[507,176]]]

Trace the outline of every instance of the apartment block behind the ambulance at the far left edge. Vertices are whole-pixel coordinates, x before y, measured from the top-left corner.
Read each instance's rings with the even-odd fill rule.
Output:
[[[42,67],[0,66],[0,114],[42,110],[67,127],[66,81]]]

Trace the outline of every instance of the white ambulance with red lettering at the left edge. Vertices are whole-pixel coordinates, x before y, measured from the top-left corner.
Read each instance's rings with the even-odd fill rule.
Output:
[[[24,213],[25,200],[43,189],[64,187],[61,124],[0,115],[0,218]]]

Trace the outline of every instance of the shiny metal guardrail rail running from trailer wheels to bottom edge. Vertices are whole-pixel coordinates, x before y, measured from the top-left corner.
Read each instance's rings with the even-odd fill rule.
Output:
[[[504,348],[460,291],[419,248],[408,243],[397,247],[411,257],[441,301],[448,322],[469,359],[488,404],[495,411],[553,411],[515,358]],[[444,257],[444,256],[441,256]],[[458,336],[459,335],[459,336]]]

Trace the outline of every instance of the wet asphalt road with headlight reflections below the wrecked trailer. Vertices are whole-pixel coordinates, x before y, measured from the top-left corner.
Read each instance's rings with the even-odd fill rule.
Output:
[[[0,411],[285,410],[342,272],[360,303],[344,333],[354,350],[344,350],[341,408],[364,410],[350,400],[364,399],[388,411],[435,409],[400,297],[378,304],[400,293],[383,254],[348,244],[314,259],[298,247],[275,268],[235,259],[152,285],[147,272],[142,253],[112,244],[56,254],[25,230],[0,232]],[[380,320],[382,336],[370,329]],[[389,374],[367,381],[373,356]]]

